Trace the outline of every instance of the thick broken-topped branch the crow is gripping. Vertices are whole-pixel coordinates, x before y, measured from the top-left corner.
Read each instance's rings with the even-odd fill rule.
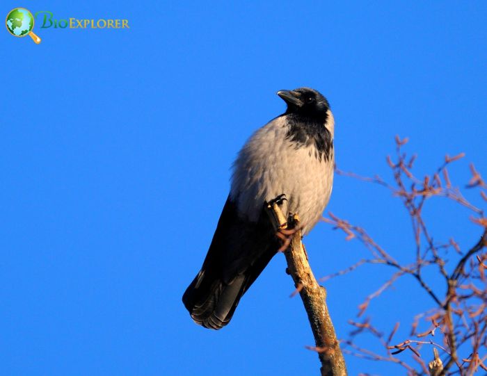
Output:
[[[291,275],[308,313],[316,342],[316,347],[311,349],[319,354],[321,376],[346,376],[344,357],[326,306],[326,290],[319,286],[308,263],[308,254],[301,243],[298,215],[290,216],[286,220],[276,203],[267,206],[267,213],[276,231],[288,236],[284,251],[287,272]]]

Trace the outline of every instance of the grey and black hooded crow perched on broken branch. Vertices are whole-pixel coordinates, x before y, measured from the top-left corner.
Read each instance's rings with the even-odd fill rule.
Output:
[[[287,111],[258,129],[233,165],[232,186],[202,268],[183,295],[191,318],[221,329],[280,248],[264,206],[298,213],[303,234],[321,218],[333,184],[334,120],[317,90],[280,90]]]

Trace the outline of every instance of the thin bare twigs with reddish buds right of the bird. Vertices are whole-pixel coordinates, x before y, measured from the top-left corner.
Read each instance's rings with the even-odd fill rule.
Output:
[[[418,313],[413,320],[410,336],[417,336],[420,340],[406,339],[399,345],[391,345],[392,337],[399,328],[399,322],[392,331],[387,331],[390,334],[386,336],[377,327],[374,327],[372,319],[367,317],[362,322],[349,321],[354,329],[349,333],[349,339],[342,342],[343,351],[363,359],[397,363],[406,368],[408,375],[470,376],[477,370],[487,370],[485,363],[487,361],[485,354],[487,349],[487,253],[483,253],[487,247],[487,217],[484,215],[483,209],[474,206],[463,197],[461,190],[454,186],[454,181],[447,169],[451,163],[463,158],[465,154],[461,153],[456,156],[447,154],[433,174],[421,178],[415,176],[413,172],[416,155],[409,158],[402,149],[408,142],[408,138],[401,139],[396,136],[395,142],[395,156],[387,158],[394,178],[392,183],[378,176],[362,177],[353,172],[343,172],[338,169],[335,171],[342,176],[388,188],[394,197],[401,200],[411,220],[414,247],[410,250],[410,254],[415,256],[414,261],[408,264],[397,261],[394,256],[399,254],[399,250],[396,250],[397,252],[386,250],[376,243],[365,229],[329,213],[329,218],[324,218],[324,222],[343,231],[346,234],[346,240],[353,238],[360,240],[373,257],[372,259],[361,259],[349,268],[332,273],[324,279],[345,275],[353,272],[359,266],[369,263],[389,265],[397,269],[394,275],[384,281],[376,292],[369,294],[365,302],[360,304],[359,316],[368,308],[370,300],[381,295],[385,289],[394,284],[396,279],[402,279],[404,275],[412,275],[435,304],[426,311]],[[486,181],[473,164],[470,164],[470,171],[472,178],[466,187],[479,190],[481,199],[487,201]],[[470,250],[462,252],[451,236],[447,242],[438,243],[437,238],[433,240],[433,234],[423,217],[424,207],[431,197],[445,197],[473,212],[470,220],[483,228],[483,234]],[[440,217],[441,215],[444,214],[440,213]],[[407,250],[400,251],[401,254],[404,254]],[[400,259],[402,260],[402,258]],[[436,270],[430,266],[435,267]],[[439,291],[438,288],[436,288],[438,291],[433,291],[429,284],[426,284],[423,275],[431,278],[431,272],[437,272],[437,277],[445,281],[447,285],[445,292]],[[420,320],[428,322],[431,326],[417,334]],[[363,333],[372,334],[380,341],[387,356],[359,347],[355,343],[356,336]],[[433,336],[437,336],[439,339],[433,342],[431,339]],[[435,358],[428,366],[421,359],[421,350],[426,345],[433,346]],[[445,355],[444,359],[440,359],[438,351]],[[397,358],[404,357],[404,354],[410,354],[410,358],[417,363],[415,365],[417,370]]]

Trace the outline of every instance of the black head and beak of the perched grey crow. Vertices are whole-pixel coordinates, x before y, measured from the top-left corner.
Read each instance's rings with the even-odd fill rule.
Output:
[[[286,113],[296,113],[309,117],[324,117],[330,109],[326,98],[320,92],[311,88],[278,91],[287,104]]]

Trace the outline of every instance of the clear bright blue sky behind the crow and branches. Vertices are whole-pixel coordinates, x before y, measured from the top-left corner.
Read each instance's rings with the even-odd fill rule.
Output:
[[[236,153],[285,110],[277,90],[306,85],[328,97],[343,170],[390,177],[385,156],[399,134],[420,176],[459,152],[454,183],[468,181],[470,161],[487,174],[486,3],[8,0],[1,9],[17,6],[130,28],[36,25],[39,45],[0,33],[4,375],[317,375],[282,255],[220,332],[194,325],[181,302]],[[407,213],[381,188],[337,177],[326,210],[413,257]],[[468,247],[479,236],[454,205],[435,202],[426,215],[437,238]],[[366,254],[324,223],[305,244],[317,276]],[[340,337],[390,273],[365,267],[326,284]],[[385,331],[401,320],[402,338],[429,306],[405,280],[370,315]],[[350,375],[402,372],[347,363]]]

